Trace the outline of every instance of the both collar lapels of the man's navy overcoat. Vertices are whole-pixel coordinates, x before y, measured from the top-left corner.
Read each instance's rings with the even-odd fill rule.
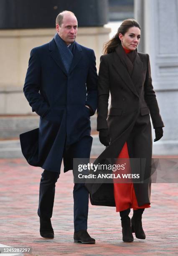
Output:
[[[69,75],[72,70],[76,67],[76,64],[81,59],[81,46],[76,42],[75,43],[75,50],[74,50],[74,57],[71,63],[71,67],[69,69],[69,74],[66,73],[66,69],[64,67],[64,64],[62,62],[61,56],[59,54],[58,48],[56,46],[56,42],[54,38],[49,42],[49,51],[51,54],[51,57],[56,62],[56,64],[62,69],[62,71],[67,75]]]

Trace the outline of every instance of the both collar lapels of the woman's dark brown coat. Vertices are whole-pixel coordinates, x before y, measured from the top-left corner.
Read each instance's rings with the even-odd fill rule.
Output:
[[[131,77],[130,77],[130,74],[128,73],[128,71],[127,71],[126,66],[121,61],[120,52],[117,50],[117,48],[116,48],[116,51],[114,51],[113,56],[114,56],[114,63],[113,63],[114,69],[120,75],[120,77],[125,82],[127,87],[129,87],[129,89],[136,96],[138,96],[137,90],[136,90],[135,87],[136,87],[136,84],[138,83],[138,80],[140,79],[140,73],[142,72],[142,66],[143,66],[143,63],[140,60],[139,54],[137,53],[137,56],[135,58],[134,68],[133,68],[133,72],[132,72]]]

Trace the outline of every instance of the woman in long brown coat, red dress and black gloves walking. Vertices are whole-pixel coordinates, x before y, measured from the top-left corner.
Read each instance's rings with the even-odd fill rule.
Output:
[[[93,205],[116,205],[124,242],[133,241],[132,233],[145,239],[142,213],[150,207],[150,115],[155,129],[154,141],[163,136],[164,127],[153,90],[149,56],[137,52],[139,43],[140,25],[134,19],[127,19],[104,46],[99,67],[97,131],[100,142],[107,148],[96,162],[107,158],[146,159],[141,168],[144,182],[115,183],[114,187],[111,184],[92,184],[92,187],[88,184]],[[109,92],[111,106],[108,113]],[[132,220],[129,218],[130,208],[133,208]]]

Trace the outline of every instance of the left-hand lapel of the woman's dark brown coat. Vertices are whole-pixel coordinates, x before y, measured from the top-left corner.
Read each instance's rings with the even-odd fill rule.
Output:
[[[127,71],[127,68],[125,67],[125,65],[122,63],[119,55],[117,54],[117,52],[114,52],[114,63],[112,64],[114,66],[114,69],[117,71],[117,73],[120,75],[120,77],[122,78],[122,80],[125,82],[125,84],[127,85],[127,87],[129,87],[129,89],[138,96],[137,94],[137,90],[135,89],[134,83],[132,82],[132,79],[130,77],[130,74]]]

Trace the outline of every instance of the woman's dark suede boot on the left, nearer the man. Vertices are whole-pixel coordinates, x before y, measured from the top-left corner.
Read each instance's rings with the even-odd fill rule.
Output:
[[[120,212],[122,225],[122,240],[124,242],[133,242],[131,222],[129,218],[130,208]]]

